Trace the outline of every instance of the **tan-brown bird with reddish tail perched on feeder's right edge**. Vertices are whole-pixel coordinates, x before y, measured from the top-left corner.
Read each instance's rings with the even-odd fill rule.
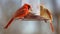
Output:
[[[50,11],[48,9],[44,8],[43,5],[40,5],[40,16],[42,16],[46,19],[49,19],[51,30],[52,30],[52,32],[54,32],[54,27],[52,24],[52,14],[50,13]]]

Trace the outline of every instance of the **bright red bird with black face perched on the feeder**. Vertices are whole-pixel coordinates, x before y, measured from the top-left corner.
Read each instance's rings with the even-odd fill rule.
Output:
[[[4,28],[7,29],[15,18],[20,19],[29,14],[29,10],[31,10],[31,6],[29,4],[24,4],[20,9],[16,11],[16,13],[13,15],[13,17],[9,20],[8,24]]]

